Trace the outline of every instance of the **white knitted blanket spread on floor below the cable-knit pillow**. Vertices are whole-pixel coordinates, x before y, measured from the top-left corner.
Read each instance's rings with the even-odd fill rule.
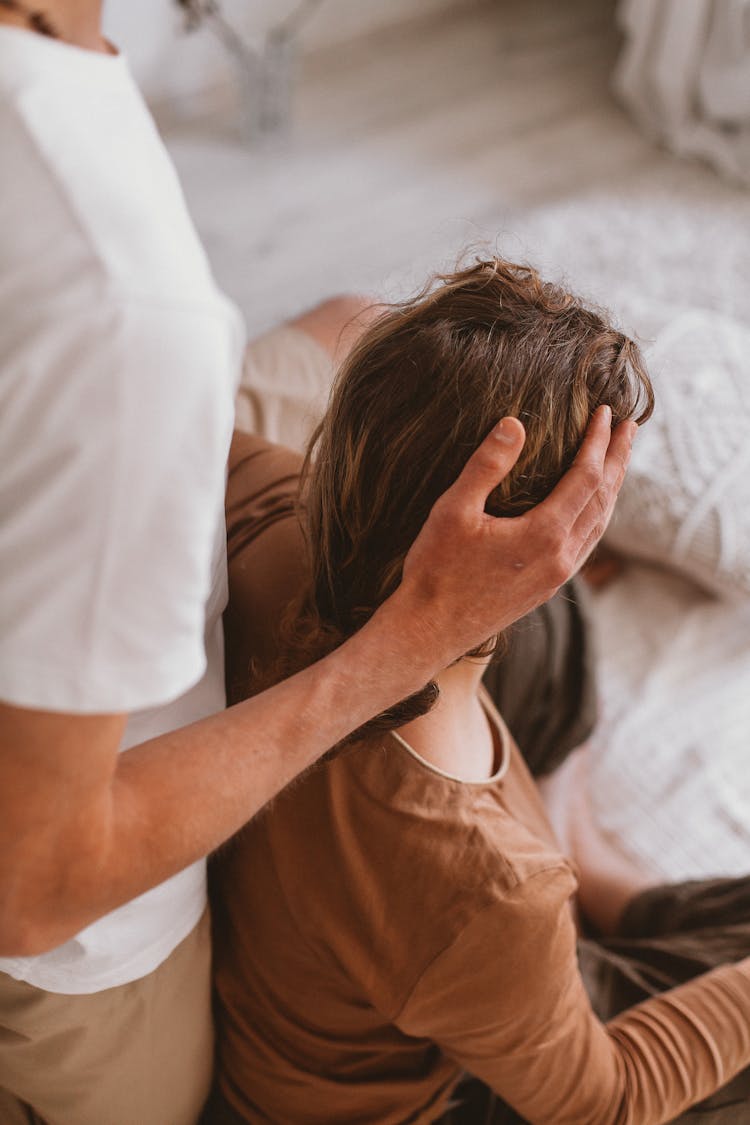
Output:
[[[750,871],[750,604],[634,565],[596,596],[597,827],[657,879]]]

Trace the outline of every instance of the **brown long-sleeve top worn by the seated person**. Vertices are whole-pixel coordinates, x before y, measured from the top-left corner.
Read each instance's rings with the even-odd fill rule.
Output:
[[[596,1018],[575,872],[493,721],[486,782],[385,736],[219,856],[219,1082],[249,1122],[428,1123],[468,1070],[534,1125],[657,1125],[750,1063],[748,961]]]

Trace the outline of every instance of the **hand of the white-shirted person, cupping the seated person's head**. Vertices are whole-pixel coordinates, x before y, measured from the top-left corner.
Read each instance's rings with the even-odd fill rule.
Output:
[[[513,519],[487,515],[493,488],[510,471],[525,433],[517,418],[485,439],[434,505],[394,595],[445,665],[540,605],[581,566],[603,534],[630,460],[634,422],[612,431],[594,415],[576,460],[552,493]]]

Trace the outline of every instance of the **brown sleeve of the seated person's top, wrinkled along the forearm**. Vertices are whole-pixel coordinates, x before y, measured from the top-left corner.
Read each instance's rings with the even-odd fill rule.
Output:
[[[750,1063],[750,969],[728,965],[604,1025],[562,870],[487,908],[421,976],[398,1026],[533,1125],[660,1125]]]

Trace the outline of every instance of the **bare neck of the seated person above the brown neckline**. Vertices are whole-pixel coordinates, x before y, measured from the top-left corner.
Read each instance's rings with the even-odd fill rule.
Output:
[[[435,706],[398,731],[419,757],[462,781],[486,781],[496,768],[496,736],[478,694],[486,666],[464,657],[445,668]]]

